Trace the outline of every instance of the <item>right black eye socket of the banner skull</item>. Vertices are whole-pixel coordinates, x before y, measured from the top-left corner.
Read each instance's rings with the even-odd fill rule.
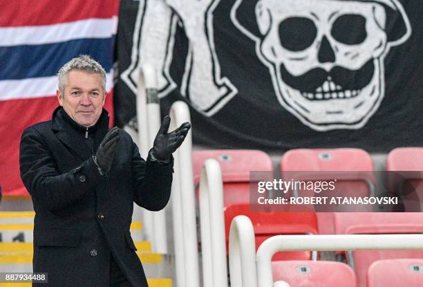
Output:
[[[367,37],[366,18],[357,14],[341,15],[335,20],[330,33],[335,40],[343,44],[363,43]]]

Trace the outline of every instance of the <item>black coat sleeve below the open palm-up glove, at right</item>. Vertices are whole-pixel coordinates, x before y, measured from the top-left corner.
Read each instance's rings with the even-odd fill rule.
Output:
[[[173,156],[167,165],[153,163],[150,156],[145,161],[133,143],[132,172],[135,203],[147,210],[162,210],[171,194]]]

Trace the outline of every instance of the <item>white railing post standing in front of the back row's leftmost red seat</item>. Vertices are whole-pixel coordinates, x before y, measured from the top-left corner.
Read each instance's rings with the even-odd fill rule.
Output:
[[[203,287],[227,287],[223,181],[215,159],[203,165],[199,198]]]

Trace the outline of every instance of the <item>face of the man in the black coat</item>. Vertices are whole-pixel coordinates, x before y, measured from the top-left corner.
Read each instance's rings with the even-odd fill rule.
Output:
[[[64,91],[57,90],[59,104],[66,113],[84,127],[93,126],[102,114],[106,93],[99,73],[70,71]]]

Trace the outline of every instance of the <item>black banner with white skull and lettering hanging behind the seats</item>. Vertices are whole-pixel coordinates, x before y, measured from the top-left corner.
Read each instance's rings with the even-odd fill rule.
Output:
[[[148,62],[162,113],[191,107],[196,143],[422,146],[421,15],[413,0],[122,0],[116,120],[135,116]]]

